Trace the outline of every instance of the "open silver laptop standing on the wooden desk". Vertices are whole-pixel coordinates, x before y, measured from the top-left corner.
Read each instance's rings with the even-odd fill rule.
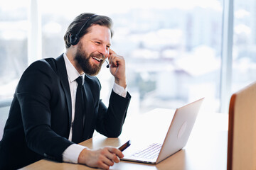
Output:
[[[176,109],[163,143],[136,148],[136,141],[132,141],[132,145],[124,150],[121,160],[158,164],[181,150],[188,142],[202,102],[203,98]]]

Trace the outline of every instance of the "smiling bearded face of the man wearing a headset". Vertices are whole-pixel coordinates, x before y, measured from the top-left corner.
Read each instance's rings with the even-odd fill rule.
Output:
[[[94,76],[100,72],[111,45],[110,29],[94,25],[87,34],[80,38],[75,53],[77,67],[85,74]]]

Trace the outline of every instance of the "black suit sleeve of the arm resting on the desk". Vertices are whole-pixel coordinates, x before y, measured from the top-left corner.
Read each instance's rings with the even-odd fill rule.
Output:
[[[46,62],[31,64],[18,83],[16,95],[21,107],[28,147],[34,152],[62,162],[63,151],[73,144],[51,129],[51,111],[57,77]]]

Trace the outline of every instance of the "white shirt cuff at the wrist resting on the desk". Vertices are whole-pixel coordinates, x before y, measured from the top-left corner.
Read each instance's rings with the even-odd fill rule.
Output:
[[[78,164],[78,157],[82,152],[82,149],[85,149],[85,148],[86,147],[82,145],[77,145],[77,144],[70,145],[63,152],[63,162]]]

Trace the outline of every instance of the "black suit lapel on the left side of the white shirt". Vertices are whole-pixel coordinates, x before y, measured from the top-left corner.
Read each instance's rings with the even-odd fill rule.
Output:
[[[56,66],[57,66],[57,74],[60,77],[60,84],[63,86],[63,90],[65,93],[65,98],[68,103],[68,118],[71,127],[71,116],[72,116],[72,106],[71,106],[71,95],[70,95],[70,86],[68,83],[68,74],[67,69],[65,67],[65,61],[63,55],[56,58]]]

